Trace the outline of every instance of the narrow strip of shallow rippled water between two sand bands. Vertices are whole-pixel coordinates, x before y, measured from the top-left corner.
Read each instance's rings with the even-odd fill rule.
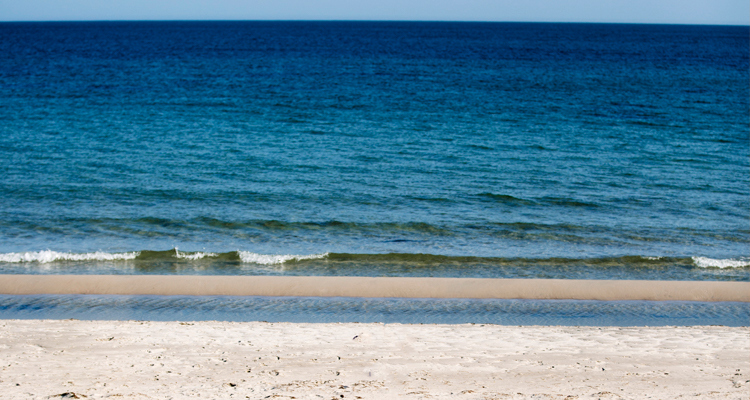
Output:
[[[0,295],[4,319],[750,326],[748,303]]]

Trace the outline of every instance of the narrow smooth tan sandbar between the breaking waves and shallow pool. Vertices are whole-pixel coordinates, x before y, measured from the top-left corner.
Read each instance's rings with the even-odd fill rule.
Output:
[[[0,293],[750,302],[750,282],[351,276],[0,275]]]

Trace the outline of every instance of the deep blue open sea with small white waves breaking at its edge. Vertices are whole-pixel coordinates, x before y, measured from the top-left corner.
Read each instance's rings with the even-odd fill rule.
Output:
[[[0,23],[0,274],[750,281],[748,48],[746,26]]]

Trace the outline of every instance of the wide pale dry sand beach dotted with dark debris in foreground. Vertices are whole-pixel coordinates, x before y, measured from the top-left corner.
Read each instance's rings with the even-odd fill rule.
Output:
[[[748,399],[750,331],[0,321],[0,398]]]

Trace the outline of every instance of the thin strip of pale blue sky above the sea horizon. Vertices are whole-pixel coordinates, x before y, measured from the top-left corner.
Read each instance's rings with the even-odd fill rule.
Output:
[[[748,0],[0,0],[0,21],[414,20],[750,25]]]

